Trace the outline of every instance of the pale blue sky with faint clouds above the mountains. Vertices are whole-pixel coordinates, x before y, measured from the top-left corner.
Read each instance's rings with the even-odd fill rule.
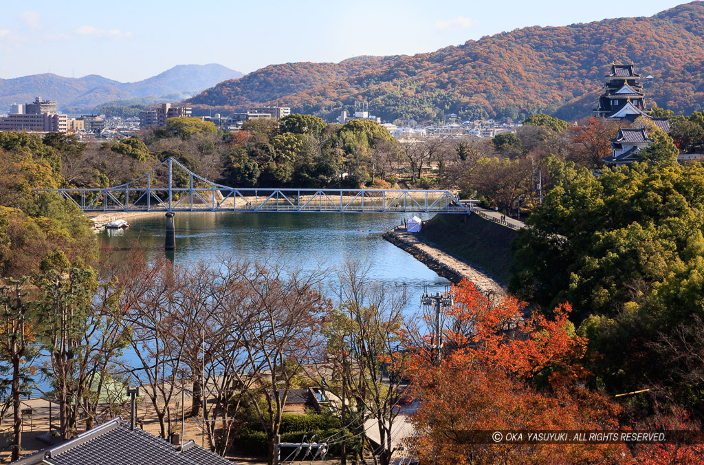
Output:
[[[13,1],[0,13],[0,77],[142,80],[177,64],[244,73],[272,63],[416,54],[541,25],[652,16],[681,0]]]

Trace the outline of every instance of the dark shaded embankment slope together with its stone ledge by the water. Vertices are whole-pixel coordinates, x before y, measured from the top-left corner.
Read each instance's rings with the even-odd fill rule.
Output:
[[[453,283],[466,279],[498,297],[507,295],[510,242],[516,231],[477,214],[436,215],[422,232],[394,228],[384,239]]]

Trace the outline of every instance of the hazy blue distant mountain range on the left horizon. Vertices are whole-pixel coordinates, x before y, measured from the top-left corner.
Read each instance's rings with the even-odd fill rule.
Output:
[[[179,99],[201,92],[223,80],[243,76],[218,64],[179,65],[139,82],[118,82],[99,75],[63,77],[39,74],[0,79],[0,112],[11,104],[34,101],[34,97],[56,100],[58,108],[92,111],[107,101],[177,94]]]

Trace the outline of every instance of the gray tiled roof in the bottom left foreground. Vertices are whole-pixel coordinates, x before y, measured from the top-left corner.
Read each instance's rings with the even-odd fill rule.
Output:
[[[36,456],[36,459],[34,457]],[[178,446],[117,419],[49,449],[14,462],[18,465],[146,464],[225,465],[231,461],[189,441]]]

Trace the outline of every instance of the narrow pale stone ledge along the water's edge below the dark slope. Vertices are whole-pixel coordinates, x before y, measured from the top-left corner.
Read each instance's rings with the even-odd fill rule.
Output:
[[[487,295],[498,298],[508,295],[503,284],[482,273],[467,261],[438,249],[435,244],[425,240],[420,234],[408,233],[406,228],[396,226],[384,233],[384,239],[415,256],[418,261],[452,283],[459,283],[466,279]]]

